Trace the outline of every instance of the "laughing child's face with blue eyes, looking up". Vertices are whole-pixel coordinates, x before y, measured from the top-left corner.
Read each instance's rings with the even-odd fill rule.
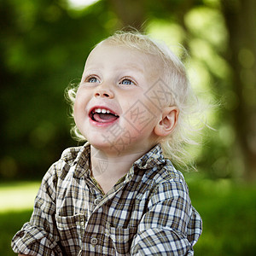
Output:
[[[76,125],[92,146],[108,154],[154,146],[161,113],[147,91],[160,78],[157,62],[136,49],[106,42],[92,50],[74,105]]]

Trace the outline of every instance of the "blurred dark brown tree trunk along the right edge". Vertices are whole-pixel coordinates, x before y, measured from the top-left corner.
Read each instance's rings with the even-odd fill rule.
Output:
[[[232,67],[233,90],[238,98],[231,113],[236,128],[234,157],[240,157],[247,180],[256,178],[256,2],[222,0],[230,38],[226,59]]]

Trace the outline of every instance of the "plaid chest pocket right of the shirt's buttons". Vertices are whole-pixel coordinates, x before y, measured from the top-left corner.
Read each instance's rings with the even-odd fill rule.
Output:
[[[130,255],[131,242],[136,234],[137,228],[109,228],[109,237],[116,255]]]

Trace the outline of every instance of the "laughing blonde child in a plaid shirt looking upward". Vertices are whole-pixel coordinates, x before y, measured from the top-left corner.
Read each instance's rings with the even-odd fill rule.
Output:
[[[45,174],[29,223],[15,235],[27,255],[193,255],[201,217],[172,160],[188,142],[189,82],[165,46],[120,32],[85,63],[73,116],[83,147]]]

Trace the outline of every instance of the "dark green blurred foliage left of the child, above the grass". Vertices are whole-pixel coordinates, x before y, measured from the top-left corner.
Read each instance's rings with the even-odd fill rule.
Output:
[[[83,12],[61,1],[1,1],[1,176],[42,177],[70,139],[64,90],[89,49],[108,35],[104,4]]]

